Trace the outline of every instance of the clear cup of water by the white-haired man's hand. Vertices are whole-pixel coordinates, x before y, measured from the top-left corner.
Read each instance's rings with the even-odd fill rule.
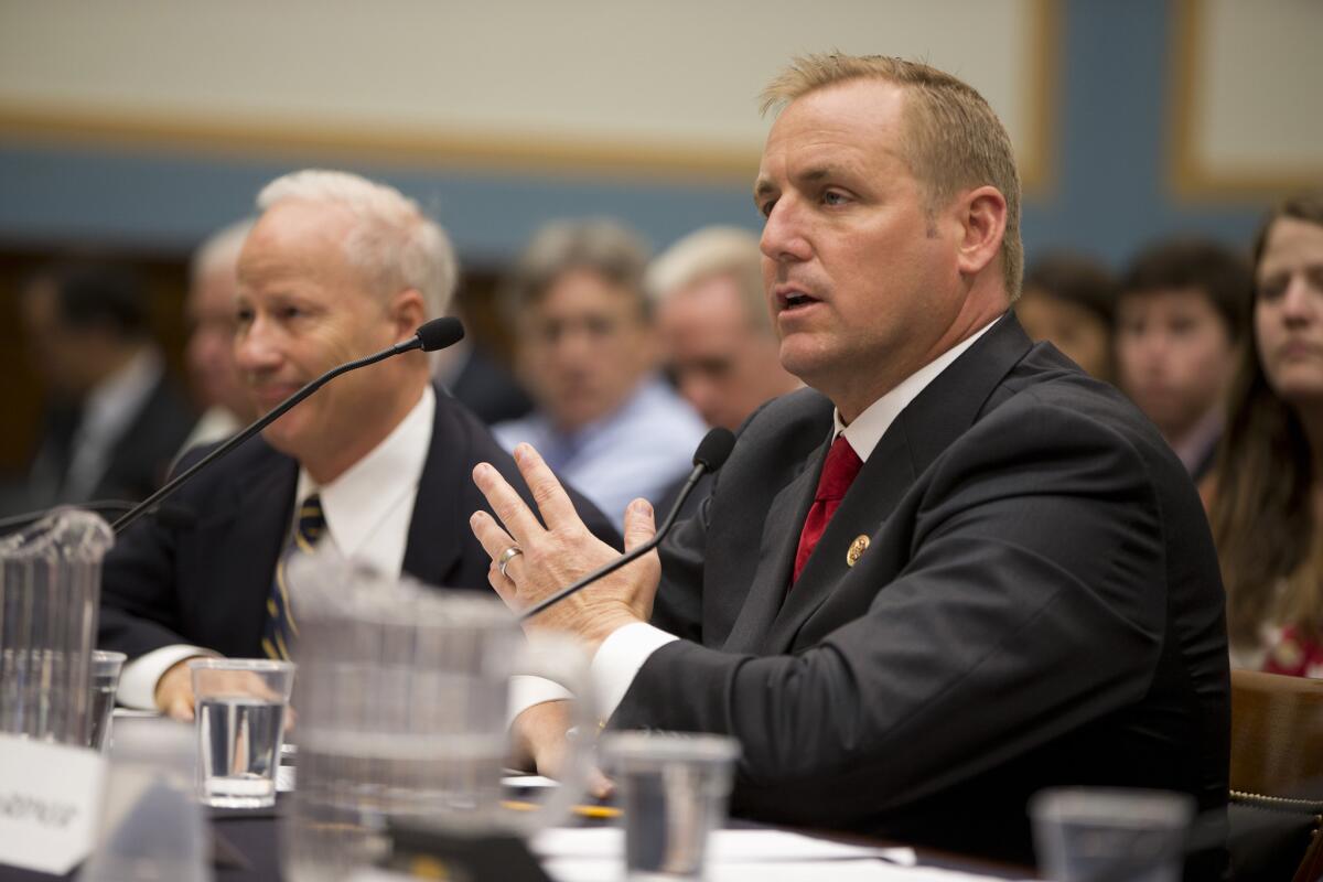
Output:
[[[214,808],[274,805],[294,662],[198,659],[188,666],[197,715],[198,797]]]

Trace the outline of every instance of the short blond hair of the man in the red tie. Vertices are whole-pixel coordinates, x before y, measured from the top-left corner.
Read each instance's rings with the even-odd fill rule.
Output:
[[[902,156],[927,190],[935,212],[959,190],[991,184],[1005,198],[1002,275],[1007,295],[1020,295],[1020,173],[1011,138],[972,86],[927,65],[889,56],[802,56],[762,91],[762,112],[781,110],[819,89],[855,79],[880,79],[905,89],[908,138]]]

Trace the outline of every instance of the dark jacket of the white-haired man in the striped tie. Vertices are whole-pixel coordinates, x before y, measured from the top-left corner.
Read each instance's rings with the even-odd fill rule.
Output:
[[[191,451],[180,469],[206,450]],[[468,516],[491,510],[474,485],[480,461],[529,500],[515,460],[463,405],[437,390],[431,447],[414,502],[404,570],[427,584],[491,590],[490,559]],[[261,657],[271,579],[288,534],[298,463],[262,438],[241,446],[187,484],[173,517],[143,518],[106,555],[98,645],[131,659],[171,644]],[[573,491],[572,491],[573,493]],[[606,518],[573,493],[589,528],[620,546]],[[177,510],[196,517],[181,517]]]

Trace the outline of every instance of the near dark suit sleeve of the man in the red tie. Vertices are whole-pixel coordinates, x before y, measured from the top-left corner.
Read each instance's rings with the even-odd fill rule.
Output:
[[[1077,413],[1016,403],[949,452],[893,513],[913,524],[904,570],[868,584],[865,554],[824,604],[856,603],[857,616],[795,655],[668,644],[613,725],[732,734],[742,788],[775,788],[787,819],[832,824],[1140,700],[1166,599],[1163,522],[1136,448]],[[685,540],[696,565],[701,530]],[[796,788],[816,796],[811,817],[795,817]]]

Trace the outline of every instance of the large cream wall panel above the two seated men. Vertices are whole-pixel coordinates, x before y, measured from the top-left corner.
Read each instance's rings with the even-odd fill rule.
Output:
[[[799,52],[921,57],[1044,163],[1054,0],[0,0],[0,124],[747,173]]]

